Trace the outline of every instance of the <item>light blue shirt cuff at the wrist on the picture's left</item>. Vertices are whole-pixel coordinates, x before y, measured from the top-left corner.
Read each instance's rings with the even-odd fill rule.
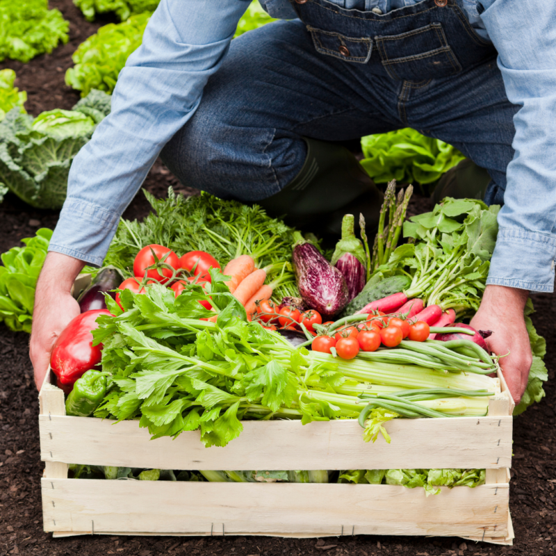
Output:
[[[101,266],[120,216],[81,199],[65,200],[48,250]]]

